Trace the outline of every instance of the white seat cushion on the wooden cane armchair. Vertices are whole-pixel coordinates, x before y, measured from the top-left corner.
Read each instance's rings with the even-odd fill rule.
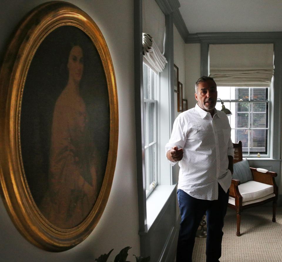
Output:
[[[248,181],[238,186],[242,205],[256,203],[275,196],[273,186],[256,181]],[[235,205],[235,198],[229,196],[229,203]]]

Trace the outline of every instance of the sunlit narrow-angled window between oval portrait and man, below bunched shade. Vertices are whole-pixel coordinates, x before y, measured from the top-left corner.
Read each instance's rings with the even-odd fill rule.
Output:
[[[159,74],[143,64],[146,197],[157,186],[157,88]]]

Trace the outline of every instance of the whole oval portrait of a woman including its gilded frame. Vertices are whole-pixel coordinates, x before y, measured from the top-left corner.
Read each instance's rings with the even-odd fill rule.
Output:
[[[115,172],[117,87],[103,34],[73,4],[41,4],[16,30],[0,83],[6,209],[31,243],[70,249],[100,220]]]

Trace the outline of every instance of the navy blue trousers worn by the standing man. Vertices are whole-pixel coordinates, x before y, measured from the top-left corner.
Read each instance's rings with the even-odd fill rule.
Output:
[[[199,224],[207,213],[207,262],[219,262],[221,257],[221,241],[223,220],[227,211],[229,190],[227,193],[218,184],[218,199],[203,200],[193,198],[183,190],[177,190],[181,223],[177,243],[177,262],[192,262],[195,236]]]

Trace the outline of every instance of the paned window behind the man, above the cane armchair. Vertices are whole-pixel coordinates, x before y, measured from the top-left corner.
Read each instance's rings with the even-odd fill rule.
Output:
[[[268,87],[226,87],[218,86],[218,98],[231,110],[229,116],[231,139],[242,141],[244,156],[269,157],[269,120],[271,89]],[[219,100],[218,100],[219,101]],[[216,104],[221,110],[221,103]]]

